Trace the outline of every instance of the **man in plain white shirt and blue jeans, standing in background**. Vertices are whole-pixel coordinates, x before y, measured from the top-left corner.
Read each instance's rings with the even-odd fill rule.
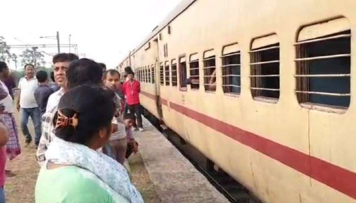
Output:
[[[36,70],[33,64],[25,65],[25,77],[21,78],[18,83],[20,89],[19,99],[17,100],[17,110],[21,115],[21,130],[25,136],[25,147],[32,141],[32,136],[28,131],[27,122],[28,117],[31,116],[35,127],[35,145],[40,142],[41,137],[41,114],[36,103],[35,91],[39,87],[38,81],[35,77]]]

